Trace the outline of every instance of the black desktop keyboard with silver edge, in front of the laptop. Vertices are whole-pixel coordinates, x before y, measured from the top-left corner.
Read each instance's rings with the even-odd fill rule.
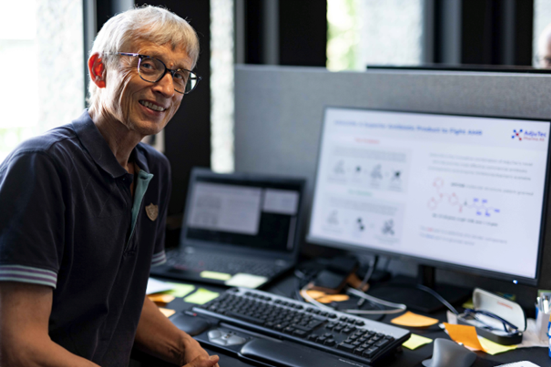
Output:
[[[410,336],[409,331],[403,328],[343,312],[323,311],[305,302],[245,288],[229,289],[217,299],[193,307],[192,310],[197,314],[214,317],[221,325],[225,323],[237,326],[241,330],[293,342],[295,346],[300,347],[293,352],[296,363],[286,360],[291,358],[290,355],[293,353],[281,350],[283,354],[279,354],[274,350],[278,348],[265,347],[261,354],[272,354],[272,358],[278,359],[280,364],[301,365],[301,354],[316,355],[311,353],[312,350],[321,350],[338,358],[371,364],[401,347]],[[218,333],[209,333],[213,332]],[[226,334],[226,340],[230,337],[235,338],[232,333],[229,331]],[[243,340],[245,343],[245,339]],[[203,341],[208,342],[208,339]],[[258,341],[255,343],[258,344]],[[244,354],[246,346],[247,344],[238,354]],[[262,347],[262,344],[257,345],[259,346]],[[251,348],[252,346],[249,349]],[[286,353],[289,355],[285,355]],[[325,354],[316,353],[318,357]],[[264,358],[264,361],[269,360],[270,358]],[[329,363],[327,361],[322,365]]]

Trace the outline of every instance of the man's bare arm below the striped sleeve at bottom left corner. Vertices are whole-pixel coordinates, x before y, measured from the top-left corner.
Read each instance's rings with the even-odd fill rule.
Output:
[[[0,365],[98,367],[48,336],[52,294],[46,285],[0,282]]]

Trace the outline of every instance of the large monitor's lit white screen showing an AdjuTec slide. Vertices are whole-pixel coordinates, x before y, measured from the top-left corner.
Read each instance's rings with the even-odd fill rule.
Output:
[[[307,238],[533,282],[549,127],[327,107]]]

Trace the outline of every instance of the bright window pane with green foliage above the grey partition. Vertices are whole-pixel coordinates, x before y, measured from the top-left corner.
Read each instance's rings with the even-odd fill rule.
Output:
[[[327,68],[422,62],[423,0],[328,0]]]

